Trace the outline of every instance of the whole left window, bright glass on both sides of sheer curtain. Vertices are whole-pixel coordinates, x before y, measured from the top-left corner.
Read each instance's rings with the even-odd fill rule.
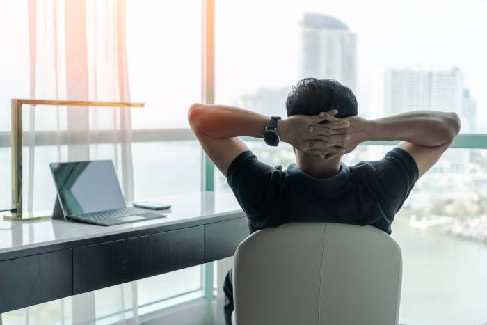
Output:
[[[93,3],[87,1],[87,6]],[[38,14],[45,12],[49,17],[49,6],[50,3],[38,1]],[[101,4],[95,3],[95,6]],[[201,1],[127,0],[125,9],[131,101],[145,102],[145,108],[132,109],[134,198],[143,200],[199,191],[202,152],[190,134],[186,111],[193,102],[201,100]],[[103,8],[99,12],[103,12]],[[0,33],[0,40],[5,48],[16,49],[0,53],[3,76],[0,78],[1,207],[10,206],[10,99],[30,97],[27,13],[27,1],[0,1],[0,29],[15,30],[15,33]],[[87,15],[89,13],[88,10]],[[52,113],[49,107],[36,113],[37,130],[51,130],[49,114]],[[29,122],[26,115],[24,124]],[[61,157],[67,157],[67,146],[49,143],[49,139],[40,144],[35,148],[33,206],[35,210],[49,210],[54,206],[56,192],[48,164],[56,159],[53,157],[58,157],[58,152]],[[112,150],[111,144],[103,143],[90,148],[97,159],[112,158]],[[201,290],[201,273],[202,267],[198,266],[139,280],[136,300],[140,306],[147,306]],[[95,292],[97,317],[121,311],[117,300],[120,290],[110,287]],[[125,297],[127,299],[124,306],[131,308],[131,298]],[[35,319],[39,323],[56,324],[61,323],[61,314],[71,314],[71,311],[69,300],[58,300],[6,313],[3,321],[5,324],[23,322],[29,314],[31,322]],[[65,315],[65,319],[69,322],[71,316]]]

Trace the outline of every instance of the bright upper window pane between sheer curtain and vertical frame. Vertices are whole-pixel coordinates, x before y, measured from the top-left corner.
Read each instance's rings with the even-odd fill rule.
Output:
[[[127,1],[127,56],[135,129],[189,128],[201,100],[201,1]]]

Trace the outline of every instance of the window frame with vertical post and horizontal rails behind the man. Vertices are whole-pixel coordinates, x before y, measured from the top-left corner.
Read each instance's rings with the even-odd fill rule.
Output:
[[[202,1],[202,97],[201,101],[205,104],[214,104],[214,39],[215,39],[215,3],[214,0]],[[27,140],[29,136],[24,133],[24,138]],[[58,132],[38,132],[35,138],[35,145],[59,145],[60,143],[54,139],[66,139],[66,136],[58,136]],[[96,131],[94,132],[96,143],[111,143],[113,132]],[[55,136],[56,135],[56,136]],[[195,141],[196,137],[189,128],[180,129],[134,129],[132,130],[132,142],[164,142],[164,141]],[[261,141],[258,138],[244,138],[245,141]],[[0,148],[10,147],[11,134],[10,132],[0,132]],[[61,144],[63,144],[61,140]],[[65,140],[64,140],[65,141]],[[399,141],[367,141],[363,145],[395,145]],[[24,145],[29,145],[28,141]],[[460,134],[452,144],[452,148],[463,149],[487,149],[487,134]],[[201,189],[203,191],[214,191],[214,176],[215,168],[211,160],[202,152],[201,156],[202,180]],[[211,324],[211,301],[214,300],[216,292],[214,291],[214,269],[215,262],[203,264],[201,267],[201,285],[198,290],[191,290],[183,294],[170,296],[166,299],[145,303],[139,306],[141,308],[141,315],[148,315],[154,312],[154,308],[161,306],[160,310],[166,308],[174,308],[183,303],[189,303],[198,299],[205,299],[208,304],[206,324]],[[147,310],[144,312],[143,310]],[[128,312],[125,310],[122,312]],[[109,315],[101,317],[106,319],[112,317]],[[400,324],[414,324],[413,322],[403,320]]]

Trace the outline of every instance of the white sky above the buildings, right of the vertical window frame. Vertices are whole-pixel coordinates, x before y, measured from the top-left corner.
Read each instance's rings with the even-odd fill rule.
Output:
[[[477,100],[479,118],[487,120],[485,0],[217,0],[216,6],[217,100],[231,102],[259,86],[294,84],[299,22],[312,12],[340,19],[357,35],[359,109],[374,110],[374,83],[385,68],[458,67]]]

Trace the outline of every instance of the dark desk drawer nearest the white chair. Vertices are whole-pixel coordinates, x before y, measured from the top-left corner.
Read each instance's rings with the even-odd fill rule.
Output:
[[[248,235],[246,217],[205,225],[205,263],[233,256]]]

